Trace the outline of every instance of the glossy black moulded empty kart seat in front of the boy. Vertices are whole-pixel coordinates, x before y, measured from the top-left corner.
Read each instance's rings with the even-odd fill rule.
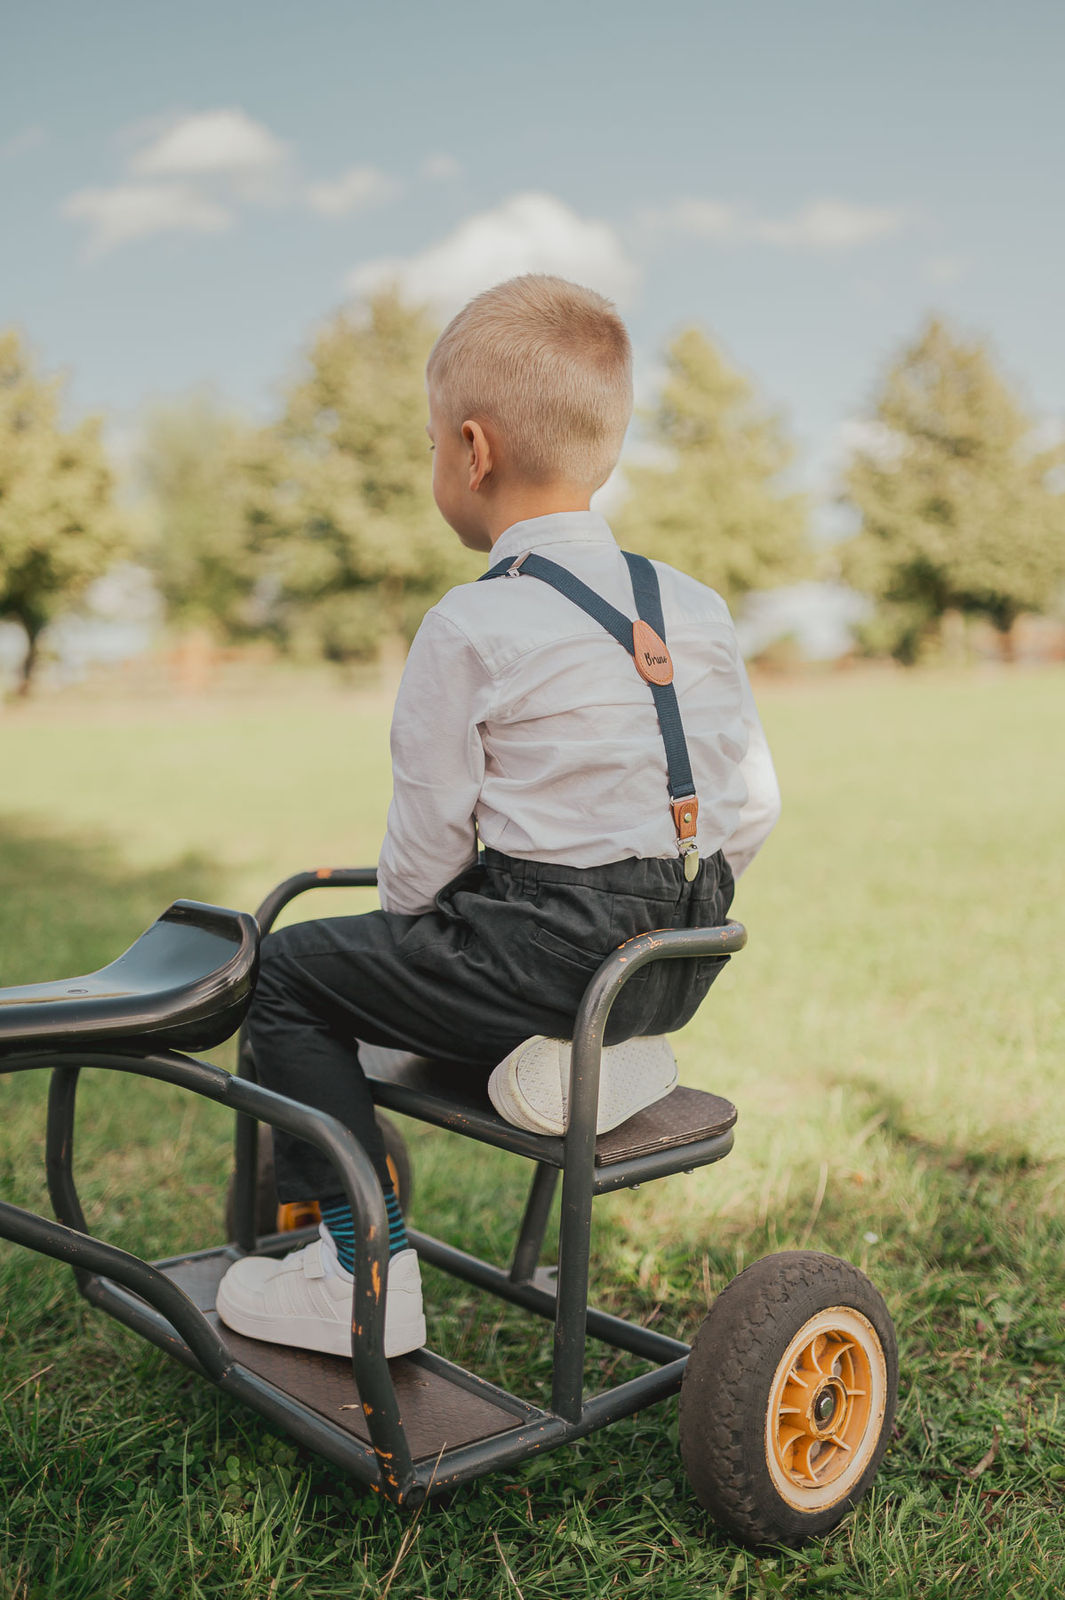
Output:
[[[130,1040],[208,1050],[240,1026],[259,960],[246,912],[174,901],[96,973],[0,989],[0,1053]]]

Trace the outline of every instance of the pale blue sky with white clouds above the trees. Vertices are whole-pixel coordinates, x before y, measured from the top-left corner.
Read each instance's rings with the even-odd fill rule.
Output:
[[[393,278],[702,325],[830,491],[929,312],[1065,419],[1060,0],[0,0],[0,326],[131,448]]]

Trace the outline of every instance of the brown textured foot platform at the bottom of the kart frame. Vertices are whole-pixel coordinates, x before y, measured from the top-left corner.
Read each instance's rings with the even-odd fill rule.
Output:
[[[214,1294],[232,1264],[227,1250],[160,1262],[162,1270],[208,1312],[237,1362],[275,1389],[305,1405],[334,1427],[369,1443],[369,1430],[352,1379],[352,1363],[285,1344],[245,1339],[219,1323]],[[414,1462],[435,1461],[441,1450],[510,1432],[540,1413],[523,1405],[430,1350],[390,1362],[403,1426]]]

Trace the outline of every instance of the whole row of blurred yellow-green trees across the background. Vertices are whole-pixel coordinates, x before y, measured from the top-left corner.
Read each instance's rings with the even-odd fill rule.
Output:
[[[445,589],[477,578],[437,514],[425,310],[382,293],[312,339],[280,414],[253,427],[206,397],[154,410],[120,510],[101,419],[67,427],[61,384],[0,334],[0,619],[29,642],[120,558],[150,568],[174,629],[267,638],[301,659],[373,659]],[[809,576],[873,602],[860,648],[915,662],[950,614],[1009,637],[1065,587],[1065,442],[1041,438],[980,341],[931,320],[883,376],[840,485],[854,531],[817,549],[787,488],[785,429],[699,328],[665,352],[624,462],[622,544],[729,605]]]

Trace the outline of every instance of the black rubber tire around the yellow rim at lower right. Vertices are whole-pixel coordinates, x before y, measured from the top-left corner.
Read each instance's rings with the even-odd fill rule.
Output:
[[[766,1413],[788,1344],[817,1312],[843,1306],[873,1325],[884,1352],[886,1405],[876,1446],[851,1493],[820,1510],[788,1504],[766,1464]],[[680,1392],[680,1448],[699,1502],[753,1547],[798,1547],[835,1528],[867,1493],[891,1440],[899,1350],[870,1280],[836,1256],[787,1250],[740,1272],[718,1294],[692,1342]]]

